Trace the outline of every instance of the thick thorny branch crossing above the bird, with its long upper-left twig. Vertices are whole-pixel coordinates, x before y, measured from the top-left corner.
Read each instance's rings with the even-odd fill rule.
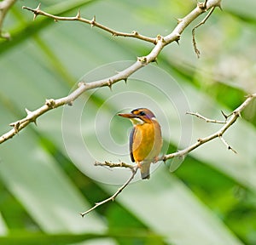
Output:
[[[207,4],[205,4],[205,3],[207,3]],[[63,97],[63,98],[60,98],[57,100],[54,100],[54,99],[46,100],[45,104],[35,111],[29,111],[26,109],[26,114],[27,114],[26,117],[24,117],[23,119],[20,119],[16,122],[10,123],[10,126],[12,126],[14,128],[9,130],[9,132],[7,132],[6,134],[3,134],[2,136],[0,136],[0,144],[3,143],[4,141],[9,140],[12,137],[14,137],[15,134],[18,134],[21,129],[26,128],[26,126],[29,123],[36,122],[37,118],[40,117],[41,115],[43,115],[45,112],[55,109],[61,105],[72,105],[74,100],[76,100],[81,94],[83,94],[85,91],[87,91],[89,89],[100,88],[100,87],[105,87],[105,86],[108,86],[109,88],[111,88],[114,83],[117,83],[121,80],[125,80],[125,82],[126,82],[127,78],[130,77],[131,74],[133,74],[137,70],[143,68],[143,66],[147,66],[149,63],[155,61],[157,59],[157,56],[160,54],[161,50],[163,48],[165,48],[166,45],[168,45],[172,42],[178,42],[178,40],[180,39],[181,34],[185,30],[185,28],[187,26],[189,26],[189,24],[193,20],[195,20],[199,15],[205,13],[208,9],[212,9],[213,7],[218,7],[219,3],[220,3],[220,0],[208,0],[207,2],[198,4],[196,6],[196,8],[194,10],[192,10],[189,14],[187,14],[185,17],[183,17],[183,19],[178,20],[177,26],[174,28],[172,33],[170,33],[166,37],[162,37],[162,36],[158,35],[156,38],[154,38],[154,42],[153,42],[153,39],[150,39],[150,37],[144,38],[143,36],[138,35],[137,32],[136,33],[133,32],[133,34],[131,34],[131,36],[129,36],[129,35],[125,36],[126,35],[125,33],[113,31],[106,26],[100,25],[99,23],[96,22],[95,19],[85,20],[85,19],[81,18],[80,13],[78,13],[77,16],[75,16],[75,17],[58,17],[55,15],[51,15],[51,14],[47,14],[47,13],[43,12],[42,10],[40,10],[39,5],[38,5],[38,8],[36,8],[36,9],[23,7],[24,9],[32,11],[32,13],[34,13],[34,17],[36,17],[38,14],[44,13],[45,16],[47,16],[49,18],[53,18],[54,20],[57,20],[57,19],[63,20],[63,18],[64,19],[69,18],[70,20],[78,20],[79,19],[79,21],[82,21],[81,19],[83,19],[84,23],[90,24],[92,26],[97,25],[99,28],[102,28],[105,31],[111,32],[112,34],[117,33],[117,34],[120,34],[119,36],[123,35],[124,37],[137,37],[144,41],[148,41],[148,42],[152,41],[151,43],[155,43],[155,46],[154,46],[154,48],[152,48],[151,52],[148,55],[143,56],[143,57],[138,57],[137,61],[135,63],[133,63],[133,65],[127,67],[125,70],[120,71],[118,74],[115,74],[112,77],[107,77],[102,80],[98,80],[98,81],[91,82],[91,83],[79,83],[79,88],[74,90],[71,94],[67,95],[66,97]],[[151,41],[149,41],[149,40],[151,40]]]

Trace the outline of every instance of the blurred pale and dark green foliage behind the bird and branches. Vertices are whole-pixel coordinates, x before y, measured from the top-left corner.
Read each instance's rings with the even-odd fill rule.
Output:
[[[150,37],[167,35],[177,25],[175,18],[195,8],[192,0],[40,2],[50,14],[73,16],[80,9],[85,18],[96,15],[97,21],[117,31],[136,30]],[[136,60],[153,48],[78,22],[55,22],[43,16],[32,21],[32,13],[22,5],[34,8],[38,1],[17,1],[4,21],[3,29],[12,39],[0,40],[1,134],[9,130],[10,122],[25,117],[25,108],[35,110],[45,99],[66,96],[79,77],[90,82],[112,75],[128,64],[113,62]],[[172,43],[157,64],[145,67],[148,77],[156,76],[154,86],[128,79],[126,85],[115,84],[113,91],[90,91],[70,108],[50,111],[38,118],[38,127],[29,125],[1,145],[0,244],[256,243],[256,101],[225,134],[238,151],[236,156],[218,140],[212,141],[191,152],[176,171],[168,171],[175,161],[162,163],[149,181],[132,183],[115,202],[79,217],[79,212],[109,197],[118,188],[113,184],[129,176],[123,169],[93,167],[95,160],[129,161],[131,125],[114,117],[117,112],[141,105],[157,108],[167,152],[172,152],[218,130],[218,125],[197,118],[192,128],[181,127],[183,121],[192,120],[182,115],[184,100],[191,111],[223,119],[221,110],[228,114],[245,95],[255,93],[256,3],[224,0],[222,7],[196,30],[199,60],[192,46],[192,25],[179,45]],[[162,82],[156,75],[159,68],[183,93],[172,87],[170,79],[163,96],[157,89]],[[168,96],[172,100],[166,100]],[[78,117],[83,123],[78,125],[85,152],[77,149],[73,138],[77,125],[63,122],[64,110],[70,110],[72,118],[77,105],[83,107]],[[65,137],[74,144],[72,154]],[[114,154],[116,142],[120,154]]]

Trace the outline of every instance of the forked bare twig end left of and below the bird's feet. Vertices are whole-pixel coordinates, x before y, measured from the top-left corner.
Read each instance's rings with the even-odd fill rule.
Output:
[[[113,163],[112,166],[110,166],[109,163],[110,163],[110,162],[107,162],[106,164],[102,163],[101,166],[104,166],[104,165],[105,165],[105,166],[108,166],[108,167],[110,167],[110,168],[125,167],[125,166],[123,165],[124,162],[121,162],[121,164],[119,164],[119,163]],[[118,165],[119,165],[119,166],[118,166]],[[126,165],[125,168],[130,168],[130,167],[127,167],[128,164],[125,164],[125,165]],[[119,190],[116,191],[111,197],[108,197],[107,199],[103,200],[102,202],[96,202],[95,205],[94,205],[92,208],[88,209],[88,210],[85,211],[84,213],[80,213],[81,216],[84,217],[85,214],[90,213],[92,210],[94,210],[94,209],[96,209],[97,207],[99,207],[99,206],[105,204],[106,202],[114,201],[114,199],[125,189],[125,187],[130,184],[131,180],[134,178],[135,174],[137,173],[137,169],[138,169],[138,168],[139,168],[139,167],[138,167],[137,165],[135,165],[135,166],[133,166],[133,168],[131,168],[131,176],[130,176],[130,178],[127,179],[126,182],[125,182],[125,184],[122,185],[122,186],[119,188]]]

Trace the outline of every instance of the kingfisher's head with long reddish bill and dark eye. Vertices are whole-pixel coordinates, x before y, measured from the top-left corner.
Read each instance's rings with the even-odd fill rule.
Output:
[[[151,123],[155,120],[154,113],[147,108],[137,108],[131,113],[119,113],[120,117],[129,118],[133,125],[143,124],[145,122]]]

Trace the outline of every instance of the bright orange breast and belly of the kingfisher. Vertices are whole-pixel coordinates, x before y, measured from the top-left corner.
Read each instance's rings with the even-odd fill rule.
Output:
[[[158,122],[135,126],[131,149],[135,162],[154,162],[154,158],[160,154],[161,146],[162,137]]]

